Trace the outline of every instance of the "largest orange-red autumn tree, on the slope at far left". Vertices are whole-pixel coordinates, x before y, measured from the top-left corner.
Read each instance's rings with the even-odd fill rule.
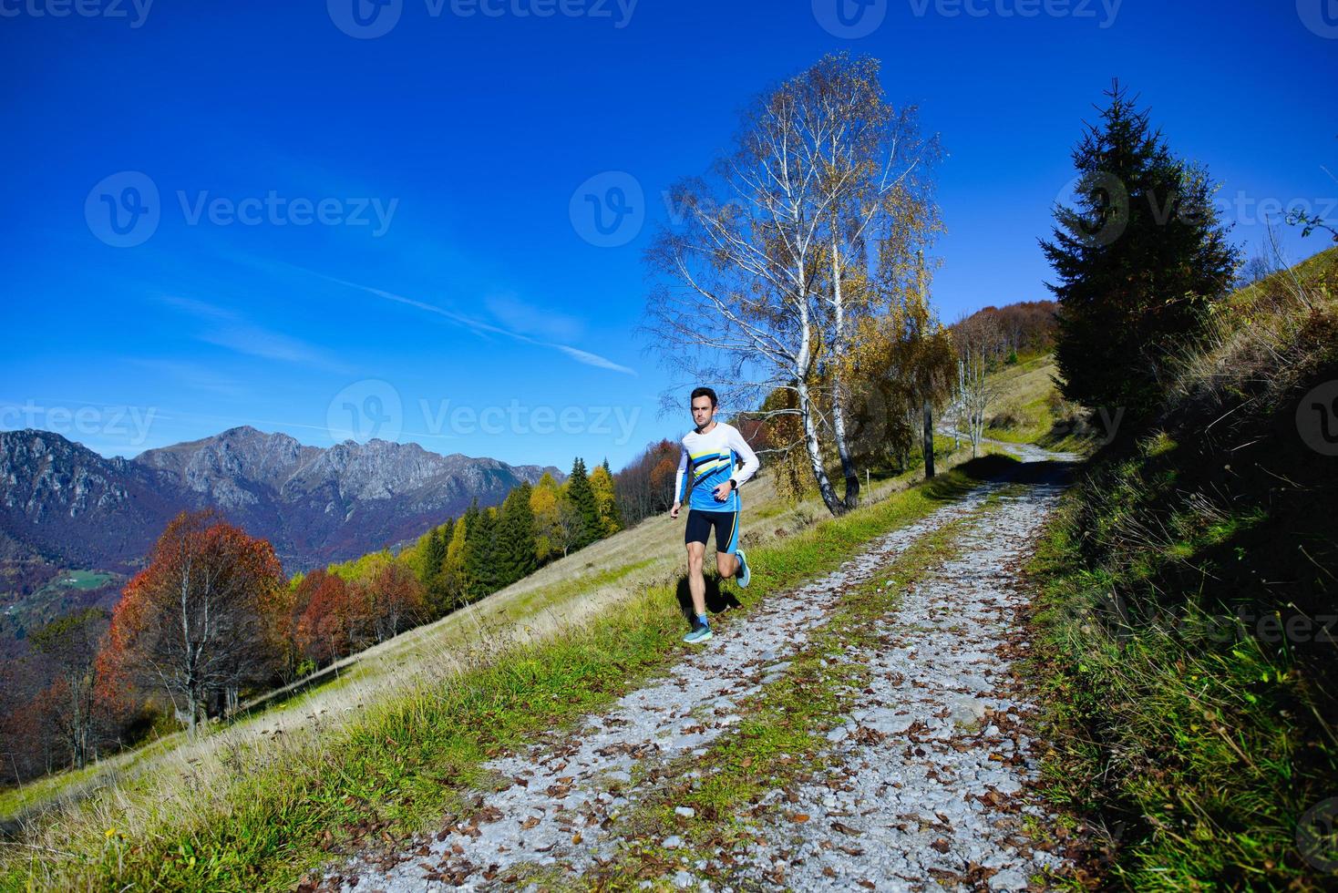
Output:
[[[182,512],[116,604],[107,663],[158,688],[195,731],[210,696],[235,703],[278,654],[266,611],[284,575],[273,547],[214,509]]]

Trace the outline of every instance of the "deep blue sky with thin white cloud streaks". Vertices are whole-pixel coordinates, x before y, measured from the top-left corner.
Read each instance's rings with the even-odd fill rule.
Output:
[[[949,152],[949,321],[1048,297],[1036,239],[1113,76],[1248,250],[1270,210],[1338,218],[1331,0],[840,1],[0,0],[0,428],[619,468],[690,424],[634,334],[662,190],[830,51],[880,57]],[[591,190],[632,211],[611,235]]]

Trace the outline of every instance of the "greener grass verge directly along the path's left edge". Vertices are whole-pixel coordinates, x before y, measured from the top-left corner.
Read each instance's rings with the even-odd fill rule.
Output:
[[[739,595],[748,606],[824,573],[971,485],[942,475],[763,545]],[[333,850],[467,813],[468,793],[488,781],[484,759],[570,726],[682,652],[674,590],[648,587],[558,636],[484,640],[458,674],[419,666],[343,726],[314,718],[280,742],[226,738],[221,770],[187,770],[179,786],[145,774],[90,797],[36,838],[66,856],[7,848],[0,889],[288,889]]]

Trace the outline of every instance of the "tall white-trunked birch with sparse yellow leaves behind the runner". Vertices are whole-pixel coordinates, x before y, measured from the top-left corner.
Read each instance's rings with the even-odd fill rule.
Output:
[[[684,408],[686,386],[708,384],[725,406],[796,418],[793,442],[760,452],[801,448],[834,515],[859,496],[838,366],[858,318],[879,311],[876,291],[851,283],[871,278],[868,246],[937,151],[913,138],[913,111],[886,106],[876,75],[876,61],[828,56],[755,100],[709,182],[669,191],[681,226],[662,229],[648,251],[666,279],[648,306],[652,349],[684,373],[666,409]],[[827,442],[844,499],[827,473]]]

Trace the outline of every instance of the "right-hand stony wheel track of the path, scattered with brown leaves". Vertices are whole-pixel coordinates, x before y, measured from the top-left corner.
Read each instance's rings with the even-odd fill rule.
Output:
[[[785,791],[785,809],[815,821],[772,822],[765,848],[733,874],[788,888],[1018,890],[1065,860],[1025,833],[1052,817],[1026,786],[1037,778],[1013,660],[1026,596],[1016,564],[1057,497],[1033,487],[983,515],[943,561],[876,623],[879,646],[850,660],[870,668],[866,692],[828,741],[835,769]],[[779,801],[781,791],[773,791]],[[1042,844],[1049,848],[1049,844]],[[724,868],[724,866],[721,866]]]

